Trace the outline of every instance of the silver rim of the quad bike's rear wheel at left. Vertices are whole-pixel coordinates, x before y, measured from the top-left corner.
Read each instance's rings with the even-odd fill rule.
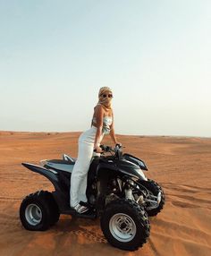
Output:
[[[42,220],[42,211],[37,204],[29,204],[25,210],[25,218],[31,226],[38,225]]]

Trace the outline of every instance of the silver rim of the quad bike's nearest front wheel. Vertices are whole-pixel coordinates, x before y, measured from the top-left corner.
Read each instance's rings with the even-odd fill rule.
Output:
[[[109,221],[109,229],[114,238],[120,242],[130,242],[136,235],[136,224],[124,213],[115,214]]]

